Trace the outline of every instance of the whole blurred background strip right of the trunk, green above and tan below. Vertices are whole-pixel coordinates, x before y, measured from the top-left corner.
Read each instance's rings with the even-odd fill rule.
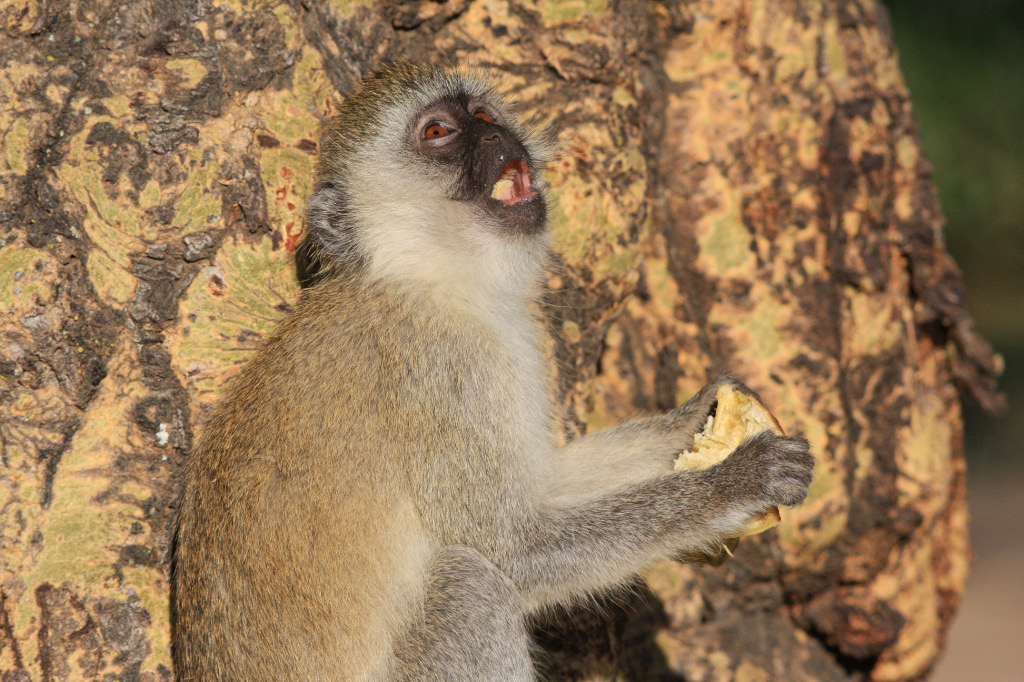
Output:
[[[974,561],[931,682],[1024,670],[1024,2],[889,0],[900,66],[978,330],[1006,360],[1001,417],[965,400]]]

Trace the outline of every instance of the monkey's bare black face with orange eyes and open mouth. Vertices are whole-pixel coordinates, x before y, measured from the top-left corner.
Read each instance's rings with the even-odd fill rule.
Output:
[[[415,148],[454,179],[451,199],[470,202],[510,233],[545,228],[547,204],[534,162],[501,114],[468,95],[444,98],[416,120]]]

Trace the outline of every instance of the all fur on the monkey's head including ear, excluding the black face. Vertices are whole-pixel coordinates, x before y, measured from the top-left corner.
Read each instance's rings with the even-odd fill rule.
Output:
[[[458,177],[415,148],[423,112],[461,96],[498,113],[526,147],[531,184],[543,194],[551,156],[546,135],[522,125],[486,79],[438,72],[408,90],[389,91],[370,109],[360,101],[352,110],[359,118],[339,119],[344,125],[330,131],[322,160],[321,184],[333,188],[311,199],[311,227],[327,254],[357,257],[371,282],[483,305],[532,297],[549,254],[547,229],[510,233],[472,204],[450,199]]]

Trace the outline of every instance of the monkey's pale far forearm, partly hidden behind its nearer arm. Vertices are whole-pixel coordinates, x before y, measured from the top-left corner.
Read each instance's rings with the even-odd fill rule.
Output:
[[[589,433],[559,449],[557,475],[552,478],[557,488],[552,495],[610,492],[670,471],[679,454],[693,446],[693,435],[705,427],[718,389],[725,384],[750,392],[736,379],[722,375],[675,410]]]

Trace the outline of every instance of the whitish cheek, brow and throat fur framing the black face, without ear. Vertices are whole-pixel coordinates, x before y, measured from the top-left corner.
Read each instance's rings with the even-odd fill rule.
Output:
[[[476,80],[445,83],[499,111],[534,161],[534,185],[545,188],[542,167],[549,154],[541,137],[520,126],[488,86]],[[547,230],[509,235],[488,224],[482,212],[449,199],[454,178],[419,156],[411,144],[411,122],[447,94],[412,93],[388,111],[369,140],[344,164],[342,182],[354,239],[373,281],[429,287],[467,301],[529,297],[548,257]]]

